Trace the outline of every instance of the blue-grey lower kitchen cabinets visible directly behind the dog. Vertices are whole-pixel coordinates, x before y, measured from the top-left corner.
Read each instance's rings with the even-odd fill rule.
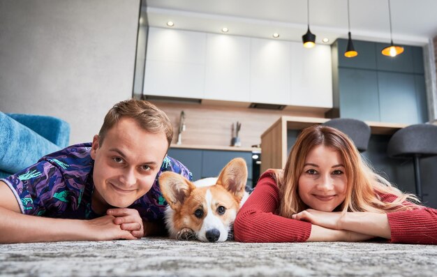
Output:
[[[252,184],[252,154],[247,151],[220,151],[206,149],[170,149],[168,156],[179,160],[193,174],[193,181],[207,177],[218,177],[223,167],[232,158],[244,158],[247,164],[247,186]]]

